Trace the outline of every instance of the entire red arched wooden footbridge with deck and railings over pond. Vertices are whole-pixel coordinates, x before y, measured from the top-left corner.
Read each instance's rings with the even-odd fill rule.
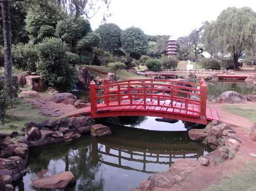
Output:
[[[68,116],[155,116],[200,124],[219,120],[215,109],[206,106],[207,85],[159,79],[90,83],[91,106]]]

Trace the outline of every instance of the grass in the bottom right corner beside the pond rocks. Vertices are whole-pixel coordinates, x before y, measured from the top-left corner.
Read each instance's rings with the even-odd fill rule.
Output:
[[[256,190],[256,162],[248,162],[246,168],[237,172],[229,179],[224,179],[219,185],[209,186],[203,191],[255,191]]]

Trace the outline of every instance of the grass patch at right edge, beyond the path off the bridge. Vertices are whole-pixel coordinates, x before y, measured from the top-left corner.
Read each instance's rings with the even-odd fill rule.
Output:
[[[239,115],[249,119],[249,121],[256,121],[256,104],[245,104],[245,105],[230,105],[222,106],[222,108],[231,114]]]

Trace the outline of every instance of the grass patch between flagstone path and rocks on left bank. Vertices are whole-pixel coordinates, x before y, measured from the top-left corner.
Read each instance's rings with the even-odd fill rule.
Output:
[[[7,110],[7,115],[4,120],[4,126],[0,126],[1,133],[11,133],[13,131],[20,131],[26,123],[30,121],[41,122],[48,119],[44,115],[38,113],[38,108],[31,106],[23,99],[17,99],[13,104],[13,108]]]

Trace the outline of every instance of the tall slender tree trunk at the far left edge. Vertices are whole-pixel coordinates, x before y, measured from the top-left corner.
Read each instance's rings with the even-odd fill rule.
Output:
[[[11,89],[12,85],[12,41],[11,41],[11,12],[10,1],[2,3],[2,19],[3,19],[3,34],[4,34],[4,57],[5,57],[5,72],[4,80],[7,86]]]

